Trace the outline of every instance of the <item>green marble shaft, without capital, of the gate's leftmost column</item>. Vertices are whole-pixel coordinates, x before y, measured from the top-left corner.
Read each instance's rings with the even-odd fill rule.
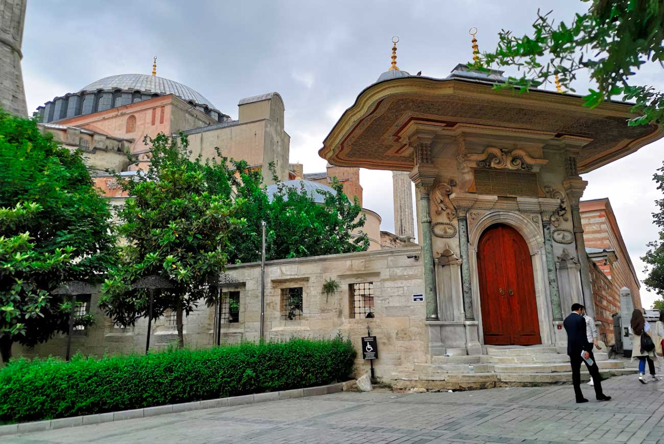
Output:
[[[424,300],[426,320],[438,321],[438,293],[436,292],[436,265],[431,241],[431,212],[428,186],[418,186],[420,193],[420,224],[422,224],[422,262],[424,263]]]

